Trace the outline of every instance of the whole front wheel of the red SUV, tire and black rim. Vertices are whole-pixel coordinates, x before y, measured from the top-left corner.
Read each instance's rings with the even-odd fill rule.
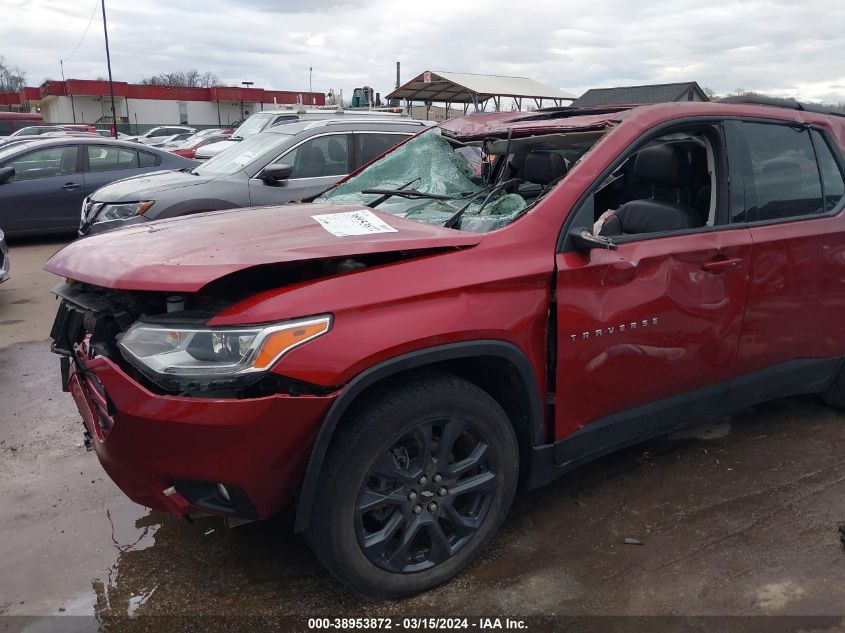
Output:
[[[342,423],[307,537],[354,591],[415,594],[458,574],[489,544],[518,476],[516,436],[501,406],[461,378],[419,377]]]

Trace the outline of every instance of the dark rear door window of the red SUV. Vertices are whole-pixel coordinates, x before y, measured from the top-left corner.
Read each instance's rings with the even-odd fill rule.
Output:
[[[745,178],[745,220],[823,213],[816,154],[806,128],[743,123],[751,173]]]

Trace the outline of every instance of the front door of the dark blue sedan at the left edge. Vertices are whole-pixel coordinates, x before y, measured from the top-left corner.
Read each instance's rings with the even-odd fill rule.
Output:
[[[40,147],[3,163],[0,228],[8,233],[71,230],[79,225],[85,181],[78,145]]]

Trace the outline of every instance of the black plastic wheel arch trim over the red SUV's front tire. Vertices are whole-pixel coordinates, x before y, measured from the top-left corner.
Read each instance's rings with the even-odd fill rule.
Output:
[[[487,362],[479,363],[479,359],[487,359]],[[353,378],[326,414],[300,487],[294,526],[296,532],[310,525],[320,471],[344,416],[367,393],[390,384],[391,379],[430,369],[447,371],[477,384],[502,406],[514,426],[521,462],[528,462],[531,447],[543,443],[545,429],[539,383],[530,361],[515,345],[496,340],[467,341],[397,356]],[[506,381],[516,389],[496,392],[496,388]]]

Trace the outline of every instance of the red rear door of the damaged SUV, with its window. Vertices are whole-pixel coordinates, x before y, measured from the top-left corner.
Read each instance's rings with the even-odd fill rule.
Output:
[[[746,121],[727,133],[743,185],[732,216],[754,241],[732,400],[820,389],[845,355],[845,163],[822,128]]]

